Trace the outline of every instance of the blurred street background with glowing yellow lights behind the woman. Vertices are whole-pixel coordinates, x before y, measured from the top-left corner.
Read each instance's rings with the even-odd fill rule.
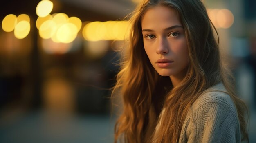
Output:
[[[0,143],[112,143],[110,90],[140,0],[0,5]],[[256,1],[204,0],[256,142]]]

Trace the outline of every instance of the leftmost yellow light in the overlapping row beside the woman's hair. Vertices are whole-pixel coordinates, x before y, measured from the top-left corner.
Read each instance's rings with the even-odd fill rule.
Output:
[[[88,41],[99,41],[102,37],[99,36],[99,33],[97,33],[97,29],[99,29],[99,26],[102,22],[90,22],[86,24],[83,28],[83,37],[85,40]]]

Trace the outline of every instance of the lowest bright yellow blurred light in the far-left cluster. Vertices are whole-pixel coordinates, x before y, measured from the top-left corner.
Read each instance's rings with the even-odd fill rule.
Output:
[[[23,39],[25,38],[30,31],[30,23],[27,21],[21,21],[19,22],[14,29],[14,35],[18,39]]]

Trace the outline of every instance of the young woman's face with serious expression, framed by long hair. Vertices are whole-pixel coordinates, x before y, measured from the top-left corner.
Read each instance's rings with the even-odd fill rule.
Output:
[[[159,75],[184,77],[189,63],[183,26],[175,10],[157,6],[141,20],[144,48]]]

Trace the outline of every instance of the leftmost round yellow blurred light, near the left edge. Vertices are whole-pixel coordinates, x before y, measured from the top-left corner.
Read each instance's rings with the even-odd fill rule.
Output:
[[[17,19],[16,15],[13,15],[13,14],[9,14],[9,15],[5,16],[2,21],[2,29],[5,32],[13,31],[15,28],[16,19]]]

